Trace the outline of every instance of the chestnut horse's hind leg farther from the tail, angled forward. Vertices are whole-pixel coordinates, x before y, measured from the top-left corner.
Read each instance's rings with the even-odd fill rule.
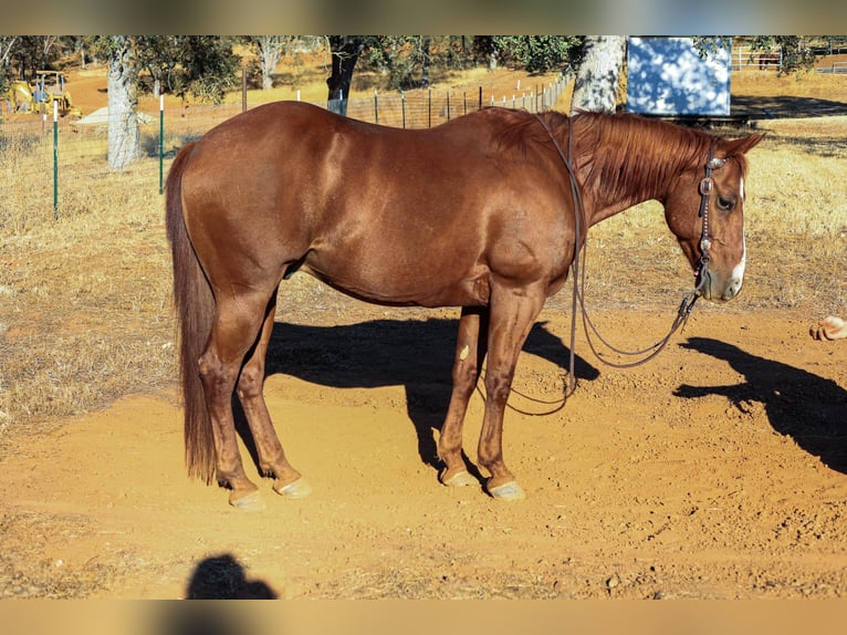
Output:
[[[260,469],[264,475],[272,475],[275,478],[274,491],[289,498],[303,498],[309,496],[311,488],[285,458],[285,451],[282,449],[282,444],[273,428],[262,395],[265,356],[273,332],[275,308],[276,292],[268,303],[259,340],[257,340],[255,346],[248,354],[247,363],[241,368],[237,393],[255,441]]]

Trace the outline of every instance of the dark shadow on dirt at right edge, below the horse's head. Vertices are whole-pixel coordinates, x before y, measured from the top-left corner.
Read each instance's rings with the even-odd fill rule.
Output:
[[[684,348],[724,360],[746,383],[728,386],[682,384],[675,394],[697,398],[723,395],[736,408],[760,402],[774,430],[791,436],[830,469],[847,473],[847,391],[832,379],[708,337],[691,337]]]

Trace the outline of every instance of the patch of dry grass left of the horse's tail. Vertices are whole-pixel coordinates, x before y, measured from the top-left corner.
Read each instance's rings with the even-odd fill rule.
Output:
[[[57,221],[3,219],[0,429],[172,382],[161,200],[137,176],[69,183]]]

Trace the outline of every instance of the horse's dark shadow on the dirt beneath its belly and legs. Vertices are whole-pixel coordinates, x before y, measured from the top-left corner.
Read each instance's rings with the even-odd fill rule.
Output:
[[[339,326],[276,322],[268,347],[265,376],[282,373],[335,388],[402,385],[421,461],[439,467],[433,430],[440,430],[452,388],[458,320],[374,320]],[[536,323],[523,347],[566,373],[568,350],[545,323]],[[520,374],[520,365],[519,365]],[[577,379],[599,373],[576,357]],[[233,400],[237,425],[253,459],[243,414]],[[473,469],[472,466],[469,466]]]

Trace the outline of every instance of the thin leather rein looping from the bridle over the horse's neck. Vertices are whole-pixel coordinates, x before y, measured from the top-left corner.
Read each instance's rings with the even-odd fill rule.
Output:
[[[587,235],[587,218],[585,216],[585,207],[583,205],[583,196],[579,188],[579,184],[577,183],[576,178],[576,169],[574,165],[572,164],[571,159],[568,157],[573,157],[573,119],[568,123],[567,127],[567,155],[562,149],[562,146],[556,140],[555,136],[553,135],[553,132],[550,129],[550,126],[540,116],[535,115],[535,118],[538,119],[538,123],[542,125],[544,131],[550,136],[551,142],[553,142],[553,147],[556,148],[556,152],[558,153],[560,158],[562,159],[562,163],[565,166],[565,169],[567,170],[569,184],[571,184],[571,196],[574,204],[574,220],[575,220],[575,250],[576,253],[574,254],[574,260],[571,264],[571,269],[573,270],[574,274],[574,292],[573,292],[573,301],[572,301],[572,312],[571,312],[571,358],[569,358],[569,368],[568,368],[568,383],[567,383],[567,389],[565,391],[564,397],[563,397],[563,405],[564,400],[566,400],[571,395],[574,394],[576,391],[576,374],[575,374],[575,344],[576,344],[576,313],[577,308],[579,309],[579,312],[583,316],[583,327],[585,329],[586,340],[588,342],[588,346],[590,347],[592,352],[596,355],[596,357],[606,364],[607,366],[611,366],[615,368],[632,368],[635,366],[640,366],[641,364],[645,364],[656,357],[663,348],[667,346],[670,339],[673,336],[673,334],[686,324],[688,321],[688,316],[691,314],[691,310],[694,308],[694,303],[697,302],[698,298],[701,295],[701,291],[703,285],[707,281],[707,273],[709,270],[709,248],[711,247],[711,236],[709,233],[709,199],[711,198],[711,194],[714,190],[714,181],[712,180],[712,171],[715,169],[720,169],[723,167],[723,165],[726,163],[726,159],[723,158],[717,158],[714,157],[714,143],[709,148],[709,156],[705,162],[705,176],[700,181],[699,191],[700,191],[700,211],[699,216],[703,219],[702,222],[702,233],[700,238],[700,258],[698,259],[697,264],[697,273],[694,279],[694,288],[691,291],[688,291],[682,296],[682,301],[680,302],[679,308],[677,309],[677,315],[673,319],[673,322],[671,323],[670,330],[667,335],[665,335],[661,340],[652,344],[651,346],[648,346],[646,348],[642,348],[640,351],[623,351],[620,348],[617,348],[609,344],[604,337],[599,334],[597,331],[597,327],[594,325],[594,323],[590,321],[590,318],[588,316],[588,311],[585,308],[585,299],[584,299],[584,292],[585,292],[585,237]],[[582,261],[581,261],[582,258]],[[628,363],[615,363],[606,360],[603,354],[597,351],[597,347],[595,346],[590,334],[594,333],[594,335],[610,351],[620,354],[620,355],[628,355],[628,356],[641,356],[641,358],[635,361],[635,362],[628,362]],[[555,410],[553,410],[555,412]],[[545,413],[547,414],[547,413]]]

